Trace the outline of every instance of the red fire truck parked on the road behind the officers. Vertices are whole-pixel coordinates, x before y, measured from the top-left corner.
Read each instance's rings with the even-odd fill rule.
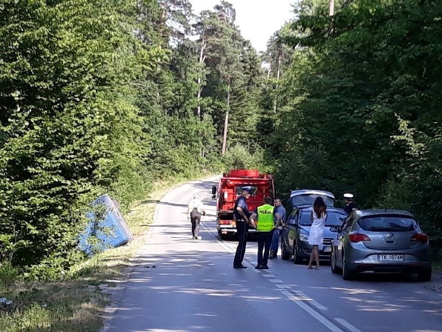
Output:
[[[216,228],[221,238],[236,233],[233,206],[243,188],[251,193],[247,199],[250,212],[262,205],[266,196],[274,199],[275,186],[271,174],[260,174],[257,169],[233,169],[222,174],[218,187],[215,185],[212,187],[213,199],[217,198]],[[249,232],[256,232],[256,230],[249,230]]]

